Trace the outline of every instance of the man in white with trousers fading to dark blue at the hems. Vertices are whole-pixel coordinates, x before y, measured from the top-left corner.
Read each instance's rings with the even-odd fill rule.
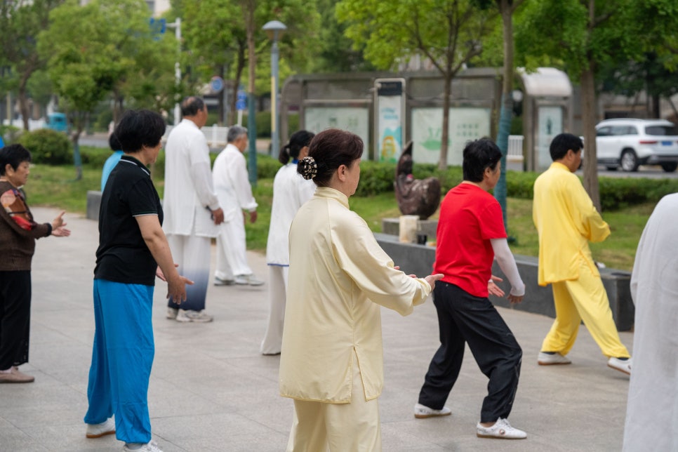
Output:
[[[167,318],[204,323],[212,317],[204,311],[210,277],[212,238],[224,213],[212,187],[207,140],[200,130],[207,122],[201,98],[181,102],[183,119],[172,128],[165,146],[165,192],[162,229],[178,264],[178,271],[194,281],[179,305],[170,298]]]

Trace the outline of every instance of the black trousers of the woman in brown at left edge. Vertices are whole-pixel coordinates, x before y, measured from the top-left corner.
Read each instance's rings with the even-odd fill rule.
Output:
[[[31,272],[0,272],[0,370],[28,362]]]

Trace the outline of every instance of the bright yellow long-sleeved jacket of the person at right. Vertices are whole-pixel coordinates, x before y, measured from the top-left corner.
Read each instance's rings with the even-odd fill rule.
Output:
[[[532,219],[539,234],[540,286],[578,279],[580,258],[591,260],[588,242],[610,234],[579,178],[558,162],[534,182]]]

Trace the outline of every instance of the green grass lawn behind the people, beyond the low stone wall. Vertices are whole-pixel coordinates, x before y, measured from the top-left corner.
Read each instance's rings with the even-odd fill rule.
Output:
[[[156,172],[152,171],[153,174]],[[75,181],[73,166],[32,165],[31,174],[25,187],[30,206],[50,206],[67,212],[84,214],[87,190],[99,190],[101,171],[83,168],[83,178]],[[160,196],[164,181],[154,177]],[[247,247],[264,252],[268,236],[273,198],[273,180],[260,179],[254,187],[254,196],[259,204],[258,220],[247,223]],[[382,193],[372,197],[351,197],[350,206],[365,219],[371,230],[381,232],[382,218],[400,215],[395,195]],[[538,254],[537,233],[532,224],[532,201],[529,199],[507,200],[508,231],[514,239],[511,249],[516,254],[536,256]],[[654,204],[642,204],[620,211],[605,212],[603,218],[609,222],[612,234],[600,244],[592,244],[593,257],[607,267],[630,271],[640,235]],[[432,218],[437,218],[437,213]]]

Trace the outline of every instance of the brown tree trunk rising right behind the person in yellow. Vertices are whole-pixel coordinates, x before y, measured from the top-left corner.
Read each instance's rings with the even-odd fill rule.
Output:
[[[593,205],[600,208],[598,188],[598,164],[596,152],[596,90],[593,62],[581,74],[582,124],[584,127],[584,189],[591,197]]]

